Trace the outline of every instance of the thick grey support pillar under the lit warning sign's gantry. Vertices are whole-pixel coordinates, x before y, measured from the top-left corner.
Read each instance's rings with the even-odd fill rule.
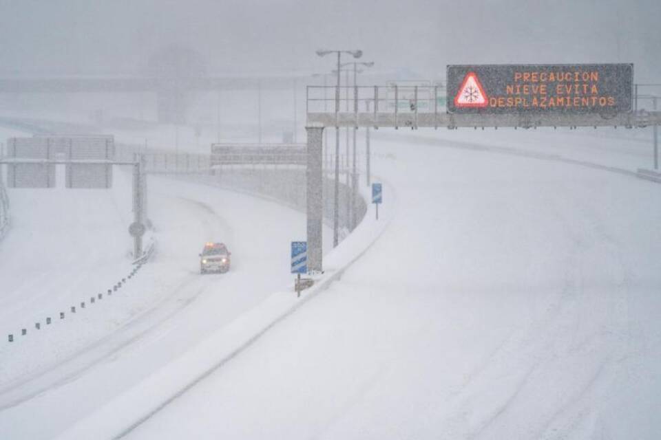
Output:
[[[324,196],[322,184],[322,136],[324,127],[306,126],[308,159],[306,170],[306,204],[308,215],[308,273],[322,272],[322,228],[324,225]]]

